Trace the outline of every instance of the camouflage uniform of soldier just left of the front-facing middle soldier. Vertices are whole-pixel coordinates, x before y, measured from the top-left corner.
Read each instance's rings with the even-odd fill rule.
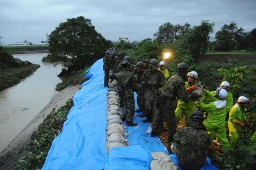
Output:
[[[142,83],[142,75],[144,73],[144,69],[140,72],[137,72],[137,77],[136,77],[136,83],[141,84]],[[140,88],[140,90],[137,92],[137,105],[139,106],[139,109],[142,111],[145,111],[145,98],[144,98],[144,88]]]

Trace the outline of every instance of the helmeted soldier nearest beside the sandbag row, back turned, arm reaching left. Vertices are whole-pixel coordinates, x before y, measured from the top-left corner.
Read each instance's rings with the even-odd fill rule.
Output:
[[[114,78],[119,83],[118,92],[123,96],[123,121],[126,121],[126,125],[136,126],[137,123],[133,123],[134,110],[135,110],[135,101],[133,89],[136,88],[136,80],[128,69],[130,64],[128,61],[122,62],[123,71],[121,73],[115,73]],[[112,75],[111,75],[112,77]],[[113,79],[114,79],[113,78]]]

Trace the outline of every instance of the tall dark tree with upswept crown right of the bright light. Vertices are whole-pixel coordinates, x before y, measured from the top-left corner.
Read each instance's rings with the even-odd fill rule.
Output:
[[[188,49],[195,62],[199,62],[201,56],[206,53],[210,41],[210,33],[214,31],[214,25],[209,21],[202,21],[199,26],[192,28],[191,34],[187,35]]]

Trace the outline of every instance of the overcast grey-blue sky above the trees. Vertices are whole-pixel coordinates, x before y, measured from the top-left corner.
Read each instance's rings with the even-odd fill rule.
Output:
[[[234,21],[251,31],[256,28],[256,0],[1,0],[1,42],[38,44],[60,23],[79,16],[91,19],[107,40],[127,37],[133,42],[153,39],[166,22],[197,26],[209,20],[219,31]]]

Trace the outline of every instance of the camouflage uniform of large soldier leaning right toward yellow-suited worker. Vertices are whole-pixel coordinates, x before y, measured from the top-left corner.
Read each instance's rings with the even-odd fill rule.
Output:
[[[173,141],[173,135],[176,133],[176,97],[182,99],[184,102],[188,102],[190,97],[187,96],[187,90],[185,87],[184,76],[181,73],[172,76],[161,90],[163,97],[159,99],[159,109],[154,117],[152,123],[152,131],[158,131],[158,128],[163,124],[163,118],[165,119],[166,126],[168,128],[168,142]],[[162,115],[162,116],[161,116]]]

